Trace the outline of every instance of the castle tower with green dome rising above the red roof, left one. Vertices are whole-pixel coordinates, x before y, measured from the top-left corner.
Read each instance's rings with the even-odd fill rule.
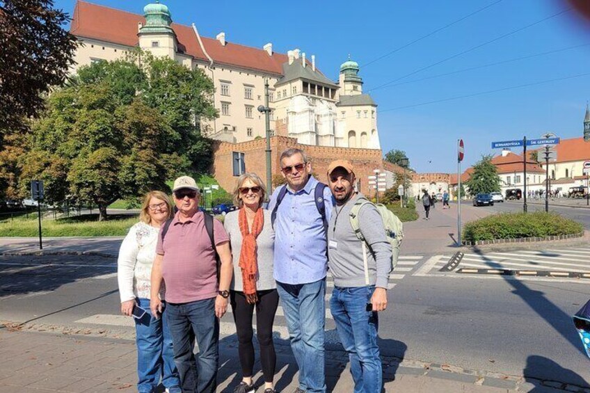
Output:
[[[139,24],[139,47],[151,51],[154,56],[166,56],[174,59],[176,54],[176,35],[170,27],[172,15],[170,10],[158,0],[143,8],[145,26]]]

